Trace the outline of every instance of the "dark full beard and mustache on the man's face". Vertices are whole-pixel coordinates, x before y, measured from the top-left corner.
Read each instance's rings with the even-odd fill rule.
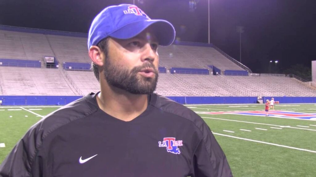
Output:
[[[155,77],[137,76],[145,68],[152,68]],[[124,66],[115,65],[109,57],[104,63],[104,77],[109,85],[125,90],[131,94],[151,94],[155,91],[158,81],[158,71],[151,62],[128,70]]]

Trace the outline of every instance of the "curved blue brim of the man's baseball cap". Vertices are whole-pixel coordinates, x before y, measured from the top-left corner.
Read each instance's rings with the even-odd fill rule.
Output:
[[[147,27],[153,26],[159,45],[168,46],[173,43],[175,30],[171,23],[166,20],[142,20],[130,23],[117,31],[109,34],[110,37],[118,39],[129,39],[137,36]]]

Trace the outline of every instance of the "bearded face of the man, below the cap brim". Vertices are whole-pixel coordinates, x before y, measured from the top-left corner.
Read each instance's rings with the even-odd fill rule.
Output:
[[[110,38],[104,62],[107,83],[131,94],[151,94],[158,81],[157,47],[150,30],[131,39]]]

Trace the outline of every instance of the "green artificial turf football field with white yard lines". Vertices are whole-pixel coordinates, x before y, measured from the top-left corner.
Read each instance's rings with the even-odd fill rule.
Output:
[[[204,118],[234,176],[316,174],[316,104],[185,105]],[[0,162],[34,123],[55,106],[0,107]]]

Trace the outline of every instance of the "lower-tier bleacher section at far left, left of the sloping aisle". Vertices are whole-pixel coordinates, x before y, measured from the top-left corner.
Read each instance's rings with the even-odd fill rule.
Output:
[[[59,69],[1,66],[7,95],[79,95]]]

